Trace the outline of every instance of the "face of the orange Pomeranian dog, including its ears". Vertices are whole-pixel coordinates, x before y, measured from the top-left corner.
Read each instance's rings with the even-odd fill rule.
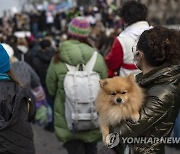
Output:
[[[127,103],[134,86],[134,76],[114,77],[100,80],[102,90],[108,95],[109,102],[118,105]]]

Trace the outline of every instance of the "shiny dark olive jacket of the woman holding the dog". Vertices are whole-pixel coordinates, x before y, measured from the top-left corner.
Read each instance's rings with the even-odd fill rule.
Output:
[[[122,121],[110,127],[122,137],[161,139],[169,137],[180,108],[180,65],[164,65],[145,75],[137,76],[139,85],[145,89],[146,99],[140,110],[138,122]],[[146,142],[145,141],[145,142]],[[164,142],[135,142],[130,145],[134,154],[164,154]],[[164,140],[165,141],[165,140]],[[171,142],[171,141],[170,141]],[[131,142],[132,143],[132,142]],[[123,153],[122,142],[114,149]]]

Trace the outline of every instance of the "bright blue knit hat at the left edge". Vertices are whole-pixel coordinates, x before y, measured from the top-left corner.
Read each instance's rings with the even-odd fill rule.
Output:
[[[6,73],[10,70],[10,60],[4,47],[0,44],[0,73]]]

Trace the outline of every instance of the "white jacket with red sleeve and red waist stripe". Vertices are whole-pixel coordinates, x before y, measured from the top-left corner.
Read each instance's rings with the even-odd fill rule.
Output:
[[[132,47],[136,46],[140,35],[144,30],[151,28],[146,21],[138,21],[129,25],[114,40],[111,51],[105,57],[109,77],[113,72],[118,72],[120,76],[138,74],[140,70],[134,65]]]

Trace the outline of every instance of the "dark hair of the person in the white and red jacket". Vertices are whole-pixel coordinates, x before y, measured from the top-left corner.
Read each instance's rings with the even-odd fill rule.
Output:
[[[128,1],[124,3],[120,9],[120,16],[128,25],[138,21],[145,21],[147,17],[147,7],[136,1]]]

